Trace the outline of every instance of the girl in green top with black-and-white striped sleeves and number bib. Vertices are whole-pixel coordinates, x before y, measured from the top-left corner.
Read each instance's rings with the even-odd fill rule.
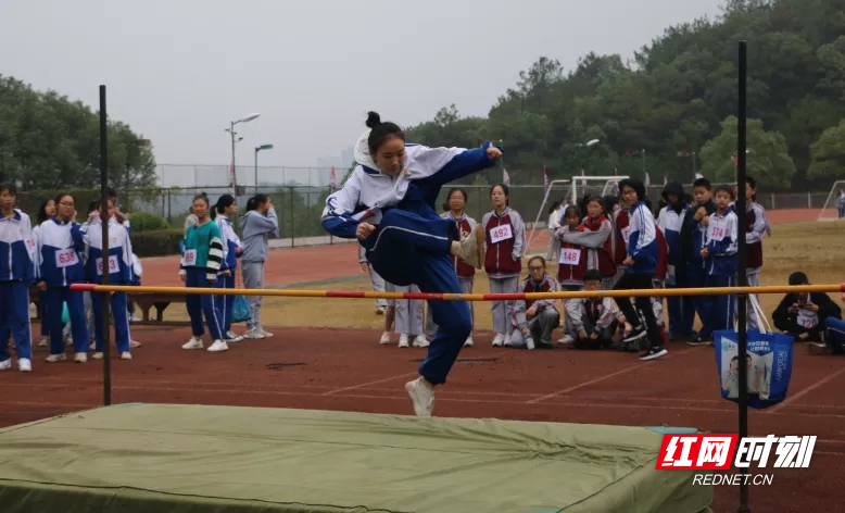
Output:
[[[193,199],[193,213],[197,215],[197,224],[188,228],[185,236],[185,254],[179,265],[179,277],[188,287],[214,287],[217,281],[217,273],[223,263],[223,238],[217,223],[210,216],[211,205],[209,198],[198,195]],[[182,346],[182,349],[204,349],[202,336],[205,334],[205,324],[212,336],[212,345],[207,351],[226,351],[229,346],[224,340],[223,320],[217,315],[214,295],[189,293],[185,305],[188,316],[191,318],[191,339]]]

